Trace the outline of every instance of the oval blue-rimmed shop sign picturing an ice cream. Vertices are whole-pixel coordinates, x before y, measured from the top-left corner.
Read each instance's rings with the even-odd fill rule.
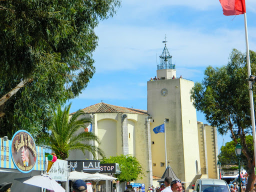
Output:
[[[37,160],[34,139],[26,130],[18,130],[11,139],[11,158],[16,168],[24,173],[30,172]]]

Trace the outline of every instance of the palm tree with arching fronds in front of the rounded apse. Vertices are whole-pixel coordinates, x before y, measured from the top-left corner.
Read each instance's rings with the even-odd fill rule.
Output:
[[[99,147],[88,144],[90,140],[97,141],[100,144],[98,137],[93,132],[77,132],[80,127],[85,128],[84,124],[91,122],[91,119],[86,117],[77,119],[80,115],[85,114],[81,109],[69,116],[70,106],[71,103],[61,110],[59,105],[56,111],[52,111],[53,118],[49,127],[51,131],[49,138],[51,149],[54,150],[59,159],[66,159],[69,150],[81,150],[84,154],[87,150],[94,157],[96,152],[104,156]]]

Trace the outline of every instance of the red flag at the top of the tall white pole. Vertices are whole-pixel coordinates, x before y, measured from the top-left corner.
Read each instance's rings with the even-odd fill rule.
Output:
[[[246,12],[245,0],[219,0],[224,15],[237,15]]]

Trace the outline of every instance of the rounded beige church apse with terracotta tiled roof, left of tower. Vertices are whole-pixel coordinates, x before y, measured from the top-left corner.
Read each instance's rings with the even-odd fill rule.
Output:
[[[103,102],[82,109],[86,117],[92,120],[92,132],[101,141],[99,147],[105,156],[131,154],[137,158],[143,168],[142,179],[136,182],[152,184],[150,118],[146,110],[139,110],[106,104]],[[87,126],[87,125],[86,125]],[[79,131],[84,131],[80,129]],[[97,146],[98,143],[94,142]],[[93,159],[90,152],[83,155],[79,151],[70,151],[68,160]],[[96,156],[100,159],[101,156]]]

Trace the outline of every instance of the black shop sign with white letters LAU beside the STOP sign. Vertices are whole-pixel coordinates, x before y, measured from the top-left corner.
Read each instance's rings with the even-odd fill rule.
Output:
[[[99,172],[99,160],[68,160],[67,164],[70,165],[70,171],[83,171],[83,172]]]

